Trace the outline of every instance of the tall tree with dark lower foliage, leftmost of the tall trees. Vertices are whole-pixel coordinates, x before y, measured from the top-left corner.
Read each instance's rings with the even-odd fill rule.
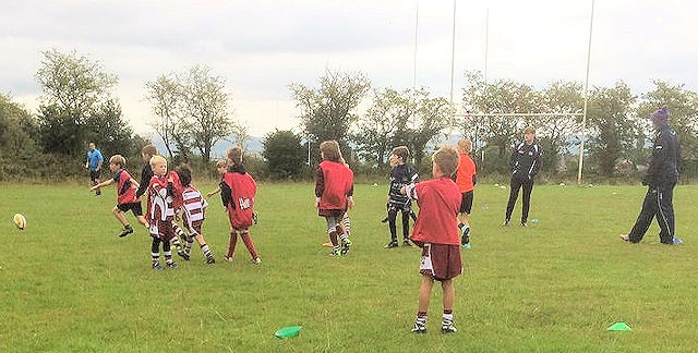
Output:
[[[39,97],[40,143],[44,150],[77,156],[86,145],[88,121],[110,98],[118,78],[103,66],[73,50],[44,51],[36,80],[41,85]],[[125,125],[125,124],[123,124]],[[111,132],[100,132],[110,134]]]

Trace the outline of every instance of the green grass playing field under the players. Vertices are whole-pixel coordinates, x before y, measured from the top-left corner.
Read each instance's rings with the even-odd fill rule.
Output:
[[[200,185],[202,191],[214,185]],[[502,228],[507,190],[478,185],[472,248],[456,279],[455,324],[440,330],[435,285],[429,332],[410,333],[419,249],[384,249],[387,185],[357,185],[354,247],[332,258],[310,184],[262,184],[252,236],[224,263],[228,221],[214,198],[204,223],[218,263],[154,271],[142,228],[119,239],[113,187],[2,184],[1,352],[694,352],[698,350],[697,186],[677,186],[677,235],[618,241],[645,195],[640,186],[533,190],[522,229]],[[26,216],[19,231],[12,215]],[[514,220],[520,215],[520,202]],[[128,218],[135,223],[132,215]],[[398,226],[398,232],[399,232]],[[631,331],[606,331],[616,321]],[[301,325],[297,338],[274,332]]]

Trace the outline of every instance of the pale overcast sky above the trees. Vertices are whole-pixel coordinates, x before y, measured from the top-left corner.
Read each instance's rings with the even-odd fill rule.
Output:
[[[590,86],[698,90],[697,13],[696,1],[595,0]],[[485,62],[490,81],[583,82],[590,15],[591,0],[457,1],[454,100]],[[448,98],[453,24],[453,0],[2,1],[0,93],[35,111],[41,51],[75,50],[119,76],[123,117],[148,135],[145,83],[204,64],[226,78],[234,119],[264,136],[298,126],[288,85],[314,87],[326,69]]]

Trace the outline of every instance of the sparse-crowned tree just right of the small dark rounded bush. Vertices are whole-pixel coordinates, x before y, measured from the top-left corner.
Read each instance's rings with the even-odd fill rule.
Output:
[[[349,127],[357,121],[353,112],[371,87],[361,72],[333,72],[320,77],[320,87],[291,83],[289,88],[301,109],[301,120],[311,144],[335,139],[346,146]]]

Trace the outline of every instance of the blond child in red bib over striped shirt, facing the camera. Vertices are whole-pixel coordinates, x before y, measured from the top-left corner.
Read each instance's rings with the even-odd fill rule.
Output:
[[[177,268],[177,263],[172,260],[170,240],[176,236],[174,210],[182,205],[182,184],[176,172],[167,171],[165,157],[153,156],[151,168],[154,175],[148,184],[147,219],[151,223],[151,236],[153,236],[151,246],[153,269],[163,269],[160,266],[160,243],[163,243],[167,267]]]

